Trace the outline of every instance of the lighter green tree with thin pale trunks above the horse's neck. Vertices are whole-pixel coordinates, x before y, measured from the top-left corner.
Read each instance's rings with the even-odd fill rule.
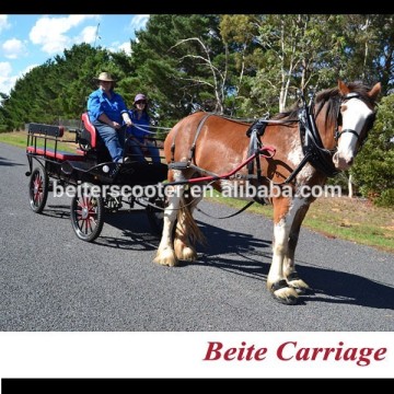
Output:
[[[282,112],[289,99],[294,102],[298,90],[333,86],[337,78],[333,81],[329,70],[344,44],[338,24],[340,16],[332,15],[263,16],[257,39],[265,67],[257,72],[252,93],[279,97]]]

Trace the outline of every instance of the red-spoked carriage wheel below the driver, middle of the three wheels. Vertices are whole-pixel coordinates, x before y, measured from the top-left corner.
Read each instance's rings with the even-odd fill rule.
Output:
[[[90,193],[93,185],[82,185],[81,195],[72,197],[71,223],[79,239],[86,242],[94,241],[103,230],[104,202],[103,197]],[[85,193],[84,193],[85,192]]]

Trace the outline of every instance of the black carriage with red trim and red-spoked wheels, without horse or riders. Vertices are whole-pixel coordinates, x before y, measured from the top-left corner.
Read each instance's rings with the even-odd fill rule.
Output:
[[[164,196],[159,185],[166,179],[167,166],[149,159],[139,162],[132,157],[124,163],[114,163],[109,153],[90,123],[82,114],[81,127],[74,130],[74,139],[63,139],[65,128],[31,123],[27,132],[26,155],[30,171],[30,206],[40,213],[45,208],[54,182],[76,193],[71,200],[70,218],[77,236],[92,242],[101,233],[104,216],[132,209],[137,204],[146,210],[152,230],[161,231]],[[160,143],[157,138],[151,139]],[[74,142],[76,152],[58,149],[60,142]],[[126,143],[127,146],[127,143]],[[125,157],[128,152],[125,149]],[[116,187],[111,187],[116,186]],[[138,194],[132,190],[138,186]],[[127,188],[127,197],[121,193]],[[114,193],[114,189],[116,193]]]

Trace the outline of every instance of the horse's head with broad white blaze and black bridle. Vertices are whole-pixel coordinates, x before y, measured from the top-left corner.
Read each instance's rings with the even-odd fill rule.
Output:
[[[381,84],[376,83],[372,89],[368,89],[358,83],[346,85],[338,81],[338,89],[340,105],[338,129],[335,134],[338,147],[333,162],[337,170],[345,171],[352,164],[373,126],[374,106]]]

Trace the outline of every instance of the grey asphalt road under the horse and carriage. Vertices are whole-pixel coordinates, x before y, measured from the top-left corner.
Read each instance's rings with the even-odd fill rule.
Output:
[[[24,150],[0,143],[0,331],[392,332],[394,255],[302,229],[300,275],[315,290],[282,305],[266,290],[270,220],[196,218],[209,244],[181,267],[152,259],[144,211],[107,217],[94,243],[70,223],[70,198],[28,205]],[[233,208],[202,202],[221,217]]]

